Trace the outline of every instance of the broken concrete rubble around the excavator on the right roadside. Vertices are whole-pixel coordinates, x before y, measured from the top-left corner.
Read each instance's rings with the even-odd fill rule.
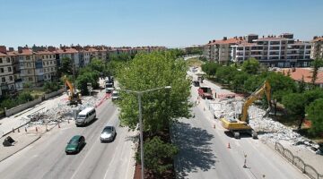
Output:
[[[210,102],[210,109],[214,117],[233,118],[241,113],[243,101],[241,99],[215,98]],[[258,138],[262,141],[284,141],[292,145],[299,145],[308,149],[318,149],[319,145],[309,139],[302,137],[299,133],[293,132],[292,128],[274,121],[270,117],[263,117],[266,111],[255,105],[249,107],[249,124],[258,132]]]

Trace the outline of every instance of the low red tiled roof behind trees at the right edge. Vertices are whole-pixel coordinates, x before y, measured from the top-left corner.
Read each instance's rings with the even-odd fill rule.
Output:
[[[296,68],[295,72],[292,72],[291,68],[287,68],[282,70],[284,74],[287,76],[288,71],[290,71],[290,77],[294,81],[301,81],[302,76],[304,76],[304,81],[306,83],[310,83],[313,75],[313,71],[311,69],[306,69],[306,68]],[[315,84],[323,84],[323,72],[318,72],[318,78],[315,81]]]

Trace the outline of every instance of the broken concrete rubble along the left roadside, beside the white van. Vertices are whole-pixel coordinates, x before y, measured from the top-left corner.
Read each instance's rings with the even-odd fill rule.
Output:
[[[28,126],[35,124],[57,124],[67,120],[74,120],[75,114],[82,111],[85,107],[95,107],[104,98],[105,94],[97,96],[83,97],[82,104],[78,106],[70,106],[67,98],[59,100],[54,107],[44,107],[28,117],[23,117],[23,121],[31,121]]]

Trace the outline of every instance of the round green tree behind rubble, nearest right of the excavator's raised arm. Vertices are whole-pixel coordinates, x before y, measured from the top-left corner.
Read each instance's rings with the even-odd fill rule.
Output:
[[[305,97],[301,93],[292,93],[283,97],[283,105],[290,115],[300,119],[299,129],[305,118]]]

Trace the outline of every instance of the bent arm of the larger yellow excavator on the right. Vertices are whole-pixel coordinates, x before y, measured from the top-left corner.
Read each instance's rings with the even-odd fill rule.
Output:
[[[271,108],[271,87],[268,81],[265,81],[263,85],[261,85],[258,90],[255,90],[249,98],[244,102],[243,107],[242,107],[242,112],[241,112],[241,118],[240,121],[243,122],[249,122],[248,121],[248,109],[249,106],[258,98],[261,98],[264,93],[266,94],[266,99],[268,102],[268,109],[266,110],[266,113],[270,111]]]

